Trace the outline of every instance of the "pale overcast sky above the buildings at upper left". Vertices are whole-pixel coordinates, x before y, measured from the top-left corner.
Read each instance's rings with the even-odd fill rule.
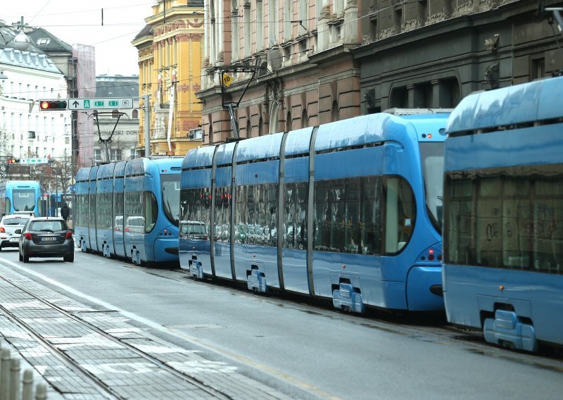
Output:
[[[154,0],[2,0],[0,20],[42,27],[68,44],[96,48],[96,75],[139,75],[131,44]],[[102,10],[103,8],[103,25]]]

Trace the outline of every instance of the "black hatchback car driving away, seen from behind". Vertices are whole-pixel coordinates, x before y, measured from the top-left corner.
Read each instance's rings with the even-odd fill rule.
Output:
[[[61,217],[32,218],[25,224],[18,243],[20,261],[30,257],[63,257],[75,261],[75,242],[72,232]]]

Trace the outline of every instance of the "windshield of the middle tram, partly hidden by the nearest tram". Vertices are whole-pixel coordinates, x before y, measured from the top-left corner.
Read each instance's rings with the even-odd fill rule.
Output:
[[[420,158],[426,189],[426,209],[438,232],[442,232],[443,211],[443,175],[444,175],[444,144],[443,142],[420,143]]]

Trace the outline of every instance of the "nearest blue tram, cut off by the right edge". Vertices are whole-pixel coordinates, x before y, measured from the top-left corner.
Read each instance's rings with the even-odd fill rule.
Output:
[[[445,311],[486,342],[563,344],[563,77],[467,96],[445,142]]]

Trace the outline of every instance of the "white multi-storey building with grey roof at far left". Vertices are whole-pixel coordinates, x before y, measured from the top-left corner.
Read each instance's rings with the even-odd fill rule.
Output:
[[[0,27],[5,38],[14,32]],[[66,99],[65,75],[48,54],[30,44],[21,51],[0,44],[0,156],[49,158],[64,161],[71,155],[70,111],[40,111],[39,99]]]

